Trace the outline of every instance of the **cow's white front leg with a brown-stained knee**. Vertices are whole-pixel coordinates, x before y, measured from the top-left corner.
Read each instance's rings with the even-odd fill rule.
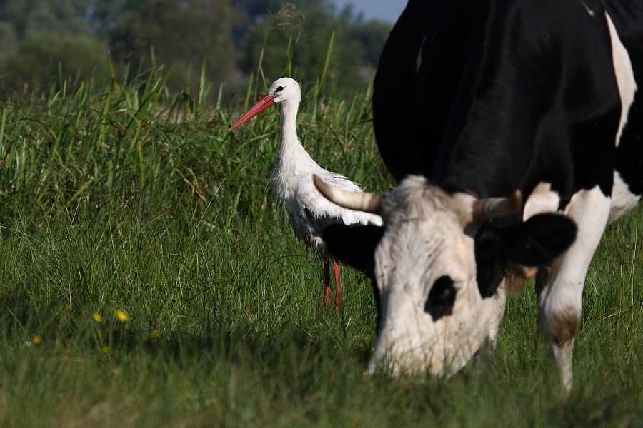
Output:
[[[567,392],[572,388],[572,352],[585,275],[607,224],[609,206],[610,198],[598,187],[574,193],[565,213],[577,223],[577,238],[549,275],[537,277],[540,327],[552,339],[554,360]]]

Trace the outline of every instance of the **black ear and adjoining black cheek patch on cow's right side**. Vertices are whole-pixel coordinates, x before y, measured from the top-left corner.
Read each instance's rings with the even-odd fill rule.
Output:
[[[552,263],[574,243],[576,233],[573,220],[554,213],[537,214],[507,228],[484,223],[475,238],[480,295],[495,294],[509,262],[529,267]]]

